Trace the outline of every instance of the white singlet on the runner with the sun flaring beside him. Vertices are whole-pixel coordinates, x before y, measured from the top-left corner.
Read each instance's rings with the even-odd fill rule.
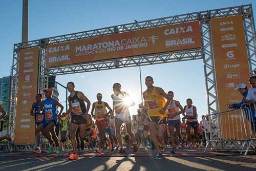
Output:
[[[129,96],[126,92],[120,92],[118,95],[115,95],[115,94],[111,95],[116,114],[130,115],[129,105],[126,105],[124,103],[124,99],[126,96]]]

